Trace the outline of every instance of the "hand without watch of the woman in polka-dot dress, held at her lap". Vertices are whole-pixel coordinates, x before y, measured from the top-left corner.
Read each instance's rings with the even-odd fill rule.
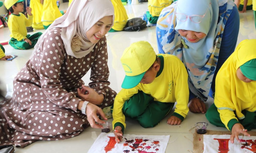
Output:
[[[104,100],[103,94],[98,94],[94,89],[82,85],[82,89],[77,89],[78,97],[82,100],[89,101],[94,105],[100,105]]]

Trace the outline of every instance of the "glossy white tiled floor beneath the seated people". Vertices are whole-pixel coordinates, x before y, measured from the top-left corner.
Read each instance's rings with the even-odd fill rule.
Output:
[[[60,10],[67,8],[68,3],[62,3]],[[147,3],[138,5],[126,5],[125,6],[129,18],[140,17],[143,12],[147,10]],[[253,12],[247,11],[246,13],[240,14],[240,31],[238,36],[238,42],[244,39],[256,39],[256,30],[254,27]],[[35,32],[44,32],[44,30],[35,30]],[[9,40],[9,29],[0,29],[0,41]],[[155,27],[146,28],[140,32],[115,32],[108,33],[108,53],[109,53],[109,69],[111,82],[110,87],[117,92],[121,90],[121,83],[125,76],[120,63],[120,57],[126,47],[136,41],[148,41],[155,52],[157,53],[156,44],[156,31]],[[232,39],[232,38],[231,38]],[[13,61],[0,61],[0,88],[6,93],[7,97],[12,96],[13,91],[13,78],[17,72],[24,66],[29,59],[33,49],[29,50],[16,50],[10,45],[4,45],[6,55],[18,55]],[[83,77],[84,82],[88,84],[89,73]],[[207,101],[207,106],[213,103],[213,99]],[[172,111],[173,112],[173,111]],[[159,125],[154,128],[144,129],[136,123],[136,121],[127,119],[127,127],[125,133],[127,134],[146,134],[146,135],[170,135],[169,143],[167,145],[167,152],[189,152],[193,150],[192,140],[193,137],[189,133],[189,129],[194,127],[197,122],[207,122],[204,114],[195,114],[189,112],[187,118],[180,125],[168,125],[166,123],[167,118],[172,113],[163,119]],[[109,120],[110,122],[112,119]],[[221,130],[226,131],[225,128],[215,127],[211,124],[208,126],[209,130]],[[25,148],[15,148],[15,152],[87,152],[94,140],[100,134],[100,129],[92,129],[91,127],[84,130],[79,136],[60,140],[60,141],[38,141]],[[174,150],[175,149],[175,150]]]

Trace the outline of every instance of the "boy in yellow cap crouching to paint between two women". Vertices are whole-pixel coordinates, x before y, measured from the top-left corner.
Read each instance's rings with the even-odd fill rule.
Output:
[[[176,56],[155,54],[146,41],[124,50],[121,63],[125,71],[122,90],[113,106],[113,129],[117,143],[122,141],[125,117],[146,127],[156,126],[177,105],[168,124],[179,125],[188,114],[188,74]]]

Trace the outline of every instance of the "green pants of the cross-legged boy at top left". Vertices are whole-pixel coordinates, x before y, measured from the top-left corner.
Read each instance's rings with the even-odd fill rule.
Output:
[[[41,32],[35,33],[33,35],[28,34],[27,39],[29,39],[31,41],[31,45],[29,45],[29,43],[27,43],[23,40],[17,41],[17,39],[14,39],[14,38],[10,39],[9,44],[15,49],[30,49],[35,46],[35,44],[37,43],[37,41],[41,35],[42,35]]]

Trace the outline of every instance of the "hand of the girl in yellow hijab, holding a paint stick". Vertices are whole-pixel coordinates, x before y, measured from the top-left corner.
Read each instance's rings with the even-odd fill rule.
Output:
[[[251,136],[249,133],[247,133],[247,129],[243,131],[244,127],[240,123],[236,123],[233,125],[232,130],[231,130],[231,136],[230,136],[230,141],[231,143],[234,143],[234,138],[236,137],[237,141],[240,142],[238,135],[240,133],[246,135],[246,136]]]

